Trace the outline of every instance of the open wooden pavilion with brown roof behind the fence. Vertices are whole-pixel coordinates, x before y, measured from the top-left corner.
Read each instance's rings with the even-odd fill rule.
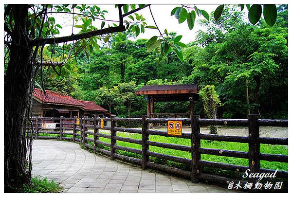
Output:
[[[189,115],[191,116],[194,111],[194,100],[198,98],[198,84],[143,86],[136,91],[136,94],[147,96],[147,115],[149,117],[155,115],[155,102],[169,101],[189,101]]]

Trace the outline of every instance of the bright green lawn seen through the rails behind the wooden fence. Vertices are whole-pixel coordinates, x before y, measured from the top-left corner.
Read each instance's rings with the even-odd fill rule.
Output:
[[[101,133],[109,134],[106,132],[101,132]],[[117,136],[127,137],[127,138],[132,138],[132,139],[141,139],[140,134],[118,132]],[[91,136],[91,135],[88,135],[88,137],[93,138],[93,136]],[[103,141],[103,142],[110,143],[110,139],[100,137],[99,140]],[[190,144],[191,144],[189,139],[154,136],[154,135],[149,136],[149,141],[161,142],[161,143],[173,143],[173,144],[180,144],[180,145],[186,145],[186,146],[190,146]],[[126,146],[126,147],[130,147],[130,148],[136,148],[136,149],[141,150],[140,144],[117,141],[117,145]],[[219,142],[219,141],[201,140],[201,147],[248,152],[248,144],[247,143],[233,143],[233,142]],[[149,150],[153,151],[153,152],[157,152],[157,153],[163,153],[163,154],[167,154],[167,155],[173,155],[173,156],[177,156],[177,157],[191,159],[191,153],[186,152],[186,151],[179,151],[179,150],[161,148],[161,147],[156,147],[156,146],[149,146]],[[125,151],[123,151],[123,152],[125,152]],[[285,145],[261,144],[260,145],[260,152],[261,153],[268,153],[268,154],[288,155],[288,148]],[[222,162],[222,163],[230,163],[230,164],[248,166],[248,160],[241,159],[241,158],[232,158],[232,157],[223,157],[223,156],[201,154],[201,159],[206,160],[206,161],[216,161],[216,162]],[[278,169],[278,170],[288,171],[288,163],[261,161],[260,164],[261,164],[261,168]]]

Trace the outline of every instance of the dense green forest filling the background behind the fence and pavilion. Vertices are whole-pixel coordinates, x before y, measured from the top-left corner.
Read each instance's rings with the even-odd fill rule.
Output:
[[[183,61],[173,52],[159,59],[156,51],[147,51],[148,40],[136,39],[132,32],[117,33],[98,49],[76,49],[84,53],[74,58],[76,52],[70,50],[70,44],[67,48],[48,46],[43,60],[66,65],[55,72],[45,69],[36,85],[95,101],[123,117],[146,114],[145,96],[135,95],[144,85],[198,83],[199,90],[214,85],[220,100],[219,118],[246,118],[250,113],[287,119],[288,7],[277,9],[273,27],[263,19],[255,26],[250,24],[235,6],[224,9],[218,21],[198,20],[205,31],[198,30],[183,48]],[[165,38],[173,42],[181,36],[172,32]],[[157,103],[155,112],[188,112],[188,105]],[[194,114],[204,116],[201,100],[195,102]]]

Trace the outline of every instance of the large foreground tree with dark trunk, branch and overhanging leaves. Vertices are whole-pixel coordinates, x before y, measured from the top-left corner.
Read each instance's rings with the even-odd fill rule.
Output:
[[[4,191],[16,192],[21,191],[24,182],[29,182],[31,178],[31,162],[27,168],[26,163],[26,147],[25,140],[25,124],[30,114],[30,100],[35,84],[37,73],[43,73],[43,50],[46,45],[51,45],[55,48],[59,43],[63,43],[63,49],[68,47],[68,58],[74,58],[81,52],[85,53],[87,57],[93,51],[93,48],[98,49],[97,39],[103,39],[106,43],[111,36],[119,32],[124,32],[126,29],[135,33],[136,36],[140,32],[144,32],[145,28],[153,28],[153,26],[146,26],[145,18],[138,15],[136,12],[149,8],[150,5],[139,4],[136,5],[115,5],[119,12],[119,20],[112,21],[112,26],[106,27],[105,19],[106,10],[101,10],[97,5],[5,5],[4,6]],[[253,5],[254,6],[254,5]],[[250,8],[252,9],[253,6]],[[258,7],[258,5],[256,5]],[[171,14],[179,19],[179,22],[188,21],[190,29],[193,26],[194,18],[197,15],[203,15],[209,18],[208,14],[196,6],[191,8],[193,11],[186,12],[182,6],[176,8]],[[261,7],[261,5],[260,5]],[[266,22],[273,25],[273,5],[264,6],[263,13]],[[131,9],[131,10],[129,10]],[[78,12],[76,12],[76,10]],[[194,11],[195,10],[195,11]],[[223,6],[219,6],[214,13],[214,17],[218,19],[222,13]],[[259,9],[258,9],[259,10]],[[265,15],[265,10],[271,11],[272,14]],[[124,12],[124,14],[123,14]],[[78,34],[70,36],[60,36],[59,29],[62,28],[59,24],[55,24],[55,18],[49,17],[49,13],[62,13],[78,16],[81,25],[74,25],[80,28]],[[135,15],[135,18],[132,16]],[[257,22],[259,18],[253,18],[258,13],[251,12],[250,20]],[[267,17],[268,16],[268,17]],[[128,17],[131,20],[126,20]],[[153,17],[153,15],[152,15]],[[272,18],[271,18],[272,17]],[[127,18],[127,19],[128,19]],[[154,18],[153,18],[154,19]],[[100,28],[94,27],[92,21],[99,20]],[[155,22],[155,20],[154,20]],[[124,25],[125,24],[125,25]],[[154,26],[158,29],[157,25]],[[158,29],[159,30],[159,29]],[[182,47],[185,44],[180,42],[181,36],[174,38],[173,42],[168,42],[164,39],[163,34],[159,30],[160,38],[158,36],[151,38],[148,41],[148,50],[156,50],[160,52],[160,57],[169,54],[171,49],[180,60],[183,60]],[[167,30],[164,33],[168,35]],[[72,42],[67,44],[67,42]],[[55,50],[53,50],[55,51]],[[56,50],[57,51],[57,50]],[[63,56],[64,57],[64,56]],[[67,63],[68,58],[64,57],[64,62]],[[47,65],[48,67],[49,65]],[[51,64],[55,70],[56,64]],[[65,67],[68,64],[64,65]],[[123,70],[123,69],[122,69]],[[18,79],[18,80],[16,80]],[[41,85],[44,85],[41,80]],[[31,149],[29,150],[31,153]]]

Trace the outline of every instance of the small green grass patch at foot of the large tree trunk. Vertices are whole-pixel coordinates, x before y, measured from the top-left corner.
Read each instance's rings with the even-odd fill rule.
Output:
[[[58,193],[62,189],[53,180],[40,177],[34,177],[30,184],[23,185],[23,193]]]

